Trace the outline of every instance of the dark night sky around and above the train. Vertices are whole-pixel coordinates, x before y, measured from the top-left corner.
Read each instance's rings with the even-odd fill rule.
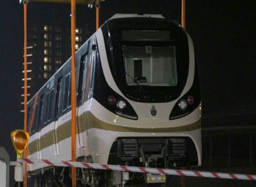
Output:
[[[246,121],[249,116],[256,125],[256,10],[253,2],[186,2],[186,30],[194,41],[198,59],[203,119],[238,116]],[[181,1],[106,0],[100,6],[100,24],[115,13],[140,12],[162,14],[181,22]],[[69,15],[69,4],[28,4],[28,20],[63,17],[63,21],[70,22]],[[95,8],[77,5],[77,23],[90,23],[95,28]],[[18,0],[1,1],[0,25],[0,146],[4,146],[14,160],[10,132],[23,128],[23,113],[20,113],[23,5]]]

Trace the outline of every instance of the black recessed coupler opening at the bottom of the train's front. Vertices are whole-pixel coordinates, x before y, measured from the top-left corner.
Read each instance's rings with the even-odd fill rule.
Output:
[[[198,165],[196,146],[188,137],[117,138],[108,164],[174,168]]]

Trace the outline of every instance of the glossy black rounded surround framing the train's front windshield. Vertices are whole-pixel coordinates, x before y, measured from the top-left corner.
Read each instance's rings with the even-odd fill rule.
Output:
[[[127,98],[137,102],[169,102],[178,98],[184,89],[189,65],[187,35],[178,24],[161,18],[120,18],[107,21],[101,29],[114,81]],[[154,55],[153,51],[157,50],[157,54],[166,55],[163,49],[175,56],[176,77],[166,81],[168,86],[145,83],[150,81],[149,76],[142,75],[143,60],[147,56],[144,59],[135,57],[129,62],[134,70],[132,67],[131,75],[127,75],[126,51],[128,56],[132,51],[140,53],[139,50],[145,53],[144,56]],[[156,74],[157,71],[151,75],[151,82]]]

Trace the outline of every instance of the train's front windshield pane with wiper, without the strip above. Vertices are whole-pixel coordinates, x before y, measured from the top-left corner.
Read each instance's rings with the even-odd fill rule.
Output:
[[[175,47],[123,46],[129,86],[176,86]]]

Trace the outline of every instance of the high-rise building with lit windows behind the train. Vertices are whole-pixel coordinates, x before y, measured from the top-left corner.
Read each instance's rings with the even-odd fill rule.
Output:
[[[88,24],[77,25],[76,50],[93,32]],[[70,25],[29,23],[27,43],[29,100],[71,56]]]

